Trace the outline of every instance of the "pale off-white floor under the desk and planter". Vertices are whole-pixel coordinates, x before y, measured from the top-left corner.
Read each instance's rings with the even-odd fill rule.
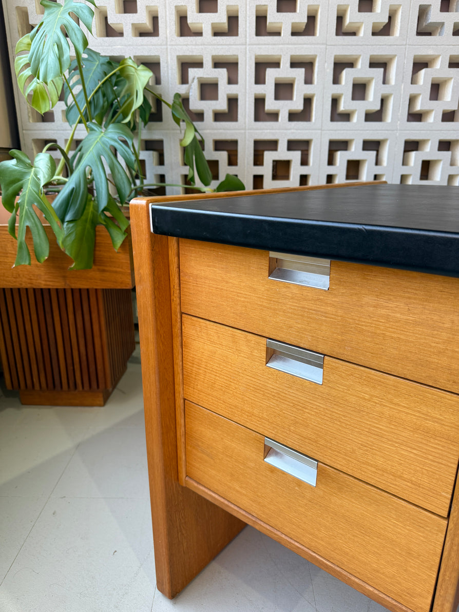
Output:
[[[0,390],[0,612],[384,612],[250,527],[166,599],[144,435],[137,353],[103,408]]]

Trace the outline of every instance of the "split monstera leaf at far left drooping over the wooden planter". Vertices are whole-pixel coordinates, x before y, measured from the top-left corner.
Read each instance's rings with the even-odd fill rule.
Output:
[[[47,234],[34,206],[45,215],[53,228],[59,244],[62,241],[62,228],[59,219],[43,194],[43,185],[51,181],[56,171],[56,163],[49,153],[39,153],[32,165],[31,161],[21,151],[10,151],[14,158],[0,163],[0,185],[2,187],[2,203],[7,211],[12,213],[9,221],[9,232],[16,237],[16,218],[19,212],[18,251],[15,266],[30,264],[31,256],[26,244],[26,228],[29,226],[34,241],[35,257],[40,263],[45,261],[50,251]],[[15,202],[19,194],[19,199]]]

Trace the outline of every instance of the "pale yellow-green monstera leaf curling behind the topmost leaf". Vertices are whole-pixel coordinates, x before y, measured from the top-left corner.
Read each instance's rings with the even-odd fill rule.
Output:
[[[28,102],[36,111],[43,114],[51,110],[53,106],[58,102],[59,95],[62,90],[62,76],[43,83],[39,81],[36,76],[32,74],[29,51],[31,48],[30,34],[26,34],[16,45],[16,53],[26,51],[22,55],[18,55],[14,62],[14,68],[18,79],[19,89],[23,93],[24,97],[28,99]],[[29,94],[32,94],[29,98]]]

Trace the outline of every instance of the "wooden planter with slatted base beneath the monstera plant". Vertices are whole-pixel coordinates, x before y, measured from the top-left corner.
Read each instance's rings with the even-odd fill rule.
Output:
[[[6,386],[18,389],[24,404],[101,406],[135,348],[130,236],[116,253],[105,228],[98,227],[94,267],[70,271],[72,260],[45,226],[47,261],[13,268],[17,244],[8,233],[8,216],[0,204],[0,359]]]

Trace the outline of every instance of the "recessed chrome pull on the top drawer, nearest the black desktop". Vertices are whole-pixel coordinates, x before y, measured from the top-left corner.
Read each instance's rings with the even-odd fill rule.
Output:
[[[328,289],[330,286],[330,259],[270,252],[269,269],[272,280],[316,289]]]

